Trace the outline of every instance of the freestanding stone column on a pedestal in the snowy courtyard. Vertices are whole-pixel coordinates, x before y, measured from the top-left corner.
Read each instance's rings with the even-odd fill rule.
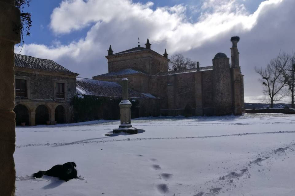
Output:
[[[128,79],[123,78],[122,79],[122,97],[123,100],[120,102],[120,119],[121,124],[119,128],[114,129],[113,133],[129,133],[129,134],[137,134],[137,129],[132,127],[131,125],[131,106],[132,104],[128,100]]]

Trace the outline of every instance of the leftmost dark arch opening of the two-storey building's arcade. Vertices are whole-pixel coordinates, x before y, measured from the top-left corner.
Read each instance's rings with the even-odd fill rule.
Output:
[[[13,109],[15,113],[15,125],[19,126],[21,123],[26,123],[30,125],[30,109],[23,104],[18,104]]]

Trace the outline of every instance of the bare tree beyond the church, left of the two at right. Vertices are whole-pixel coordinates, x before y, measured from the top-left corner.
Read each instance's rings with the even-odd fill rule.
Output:
[[[286,64],[289,62],[290,57],[286,53],[279,53],[279,55],[270,60],[266,68],[258,69],[255,71],[262,77],[259,81],[263,85],[263,94],[267,97],[266,101],[270,101],[270,107],[273,108],[273,102],[281,100],[288,95],[288,91],[284,89],[287,85],[284,80],[283,71]]]

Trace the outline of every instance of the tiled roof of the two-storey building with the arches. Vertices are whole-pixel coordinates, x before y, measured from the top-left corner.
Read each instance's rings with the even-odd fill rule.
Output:
[[[14,65],[16,67],[22,67],[22,68],[53,71],[53,72],[60,72],[60,73],[66,73],[66,74],[76,74],[66,69],[65,67],[57,64],[53,60],[36,58],[32,56],[20,55],[15,53],[14,53]]]

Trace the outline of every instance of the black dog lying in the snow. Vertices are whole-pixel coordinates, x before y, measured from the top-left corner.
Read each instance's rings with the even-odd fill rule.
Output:
[[[38,171],[33,174],[35,178],[41,178],[43,175],[58,177],[66,182],[70,179],[77,178],[77,170],[75,169],[77,165],[74,162],[67,162],[62,165],[55,165],[47,171]]]

